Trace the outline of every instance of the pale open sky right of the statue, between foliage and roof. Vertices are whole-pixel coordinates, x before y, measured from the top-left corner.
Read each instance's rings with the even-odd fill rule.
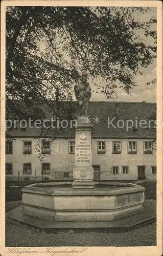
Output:
[[[143,21],[148,21],[150,18],[154,17],[157,19],[156,16],[156,8],[153,7],[150,10],[148,10],[145,13],[141,13],[137,11],[135,14],[135,19],[139,19]],[[152,24],[151,26],[152,30],[156,30],[156,24]],[[151,36],[145,36],[144,31],[139,30],[138,31],[139,37],[141,37],[144,41],[147,42],[147,44],[153,46],[154,39]],[[44,44],[44,42],[43,42]],[[42,46],[44,48],[44,46]],[[142,72],[141,74],[137,74],[134,77],[134,82],[137,84],[136,87],[130,90],[130,94],[126,93],[122,89],[116,89],[114,94],[114,99],[107,99],[106,96],[102,93],[96,93],[96,87],[94,83],[92,83],[91,79],[88,78],[90,87],[92,89],[92,96],[91,101],[133,101],[133,102],[156,102],[156,83],[148,85],[147,82],[151,82],[156,78],[156,59],[153,61],[153,63],[148,66],[147,68],[141,68],[139,71]],[[105,84],[105,81],[102,81],[101,86]],[[120,84],[121,86],[121,84]],[[74,95],[74,100],[75,95]]]

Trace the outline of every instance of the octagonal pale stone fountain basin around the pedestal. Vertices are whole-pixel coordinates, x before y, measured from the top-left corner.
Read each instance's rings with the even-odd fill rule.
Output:
[[[73,189],[71,182],[36,183],[22,188],[22,212],[49,221],[116,221],[143,211],[145,188],[121,182],[95,182]]]

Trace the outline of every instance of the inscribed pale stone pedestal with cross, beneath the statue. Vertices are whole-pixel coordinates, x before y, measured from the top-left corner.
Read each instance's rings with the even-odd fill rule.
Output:
[[[73,170],[73,189],[94,188],[94,169],[92,168],[91,129],[85,117],[77,119],[75,136],[75,167]]]

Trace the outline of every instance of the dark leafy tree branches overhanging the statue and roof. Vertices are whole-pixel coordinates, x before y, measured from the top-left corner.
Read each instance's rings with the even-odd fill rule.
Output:
[[[17,117],[43,117],[38,105],[45,103],[57,115],[50,99],[71,101],[83,70],[107,98],[117,87],[129,92],[139,68],[156,58],[156,31],[152,30],[156,19],[137,18],[150,11],[145,7],[8,7],[7,115],[14,110]],[[140,31],[152,38],[152,46]],[[106,81],[105,86],[98,79]]]

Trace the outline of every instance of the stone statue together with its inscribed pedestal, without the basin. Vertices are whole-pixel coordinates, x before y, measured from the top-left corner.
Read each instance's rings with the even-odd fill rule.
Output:
[[[73,189],[94,188],[94,169],[92,168],[91,129],[87,122],[91,88],[87,82],[88,74],[82,73],[81,82],[74,87],[78,101],[77,125],[75,135],[75,168],[73,170]]]

